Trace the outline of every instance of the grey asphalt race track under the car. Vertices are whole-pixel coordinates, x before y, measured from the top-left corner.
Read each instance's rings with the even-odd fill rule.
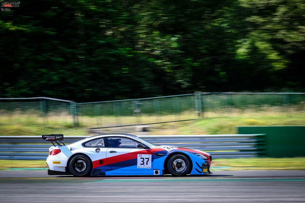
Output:
[[[305,171],[86,178],[0,171],[0,202],[305,202]]]

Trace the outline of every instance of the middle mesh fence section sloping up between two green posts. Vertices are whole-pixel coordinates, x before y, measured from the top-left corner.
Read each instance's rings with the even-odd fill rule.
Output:
[[[194,94],[77,104],[87,127],[148,125],[196,119]]]

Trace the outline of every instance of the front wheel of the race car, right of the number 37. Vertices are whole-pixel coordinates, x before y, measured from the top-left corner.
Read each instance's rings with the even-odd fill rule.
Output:
[[[190,167],[190,159],[183,154],[174,154],[167,160],[167,170],[172,176],[185,176]]]

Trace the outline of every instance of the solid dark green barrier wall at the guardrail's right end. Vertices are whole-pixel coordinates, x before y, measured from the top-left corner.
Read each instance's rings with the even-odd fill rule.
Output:
[[[305,126],[241,126],[238,134],[266,134],[269,157],[305,156]]]

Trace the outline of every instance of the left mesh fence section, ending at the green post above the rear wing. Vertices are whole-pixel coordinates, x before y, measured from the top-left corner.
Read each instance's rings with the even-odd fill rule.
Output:
[[[70,102],[48,97],[1,98],[2,125],[63,125],[72,120]]]

